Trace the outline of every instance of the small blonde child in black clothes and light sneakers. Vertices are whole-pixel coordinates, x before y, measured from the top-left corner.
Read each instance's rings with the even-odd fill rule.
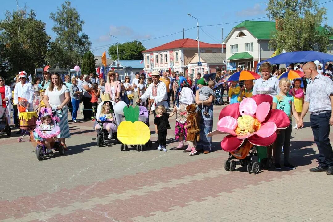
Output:
[[[175,111],[172,111],[171,114],[166,113],[166,108],[162,105],[158,106],[157,109],[157,115],[155,116],[154,123],[155,123],[155,132],[158,133],[158,141],[159,141],[159,147],[157,148],[158,151],[164,151],[166,152],[166,134],[167,129],[170,129],[169,124],[169,117],[173,116]]]

